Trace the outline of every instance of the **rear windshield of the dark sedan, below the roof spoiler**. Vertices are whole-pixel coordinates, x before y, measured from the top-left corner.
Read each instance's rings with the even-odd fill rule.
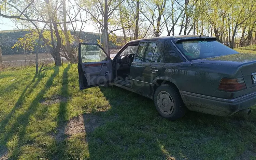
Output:
[[[228,55],[238,53],[237,51],[215,41],[181,41],[176,46],[187,57],[188,60],[216,57],[219,55]]]

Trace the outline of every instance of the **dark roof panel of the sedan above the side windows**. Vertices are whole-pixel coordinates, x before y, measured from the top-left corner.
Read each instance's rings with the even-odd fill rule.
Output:
[[[176,36],[162,36],[162,37],[150,37],[150,38],[143,38],[143,39],[136,39],[130,42],[140,42],[140,41],[148,41],[148,40],[157,40],[157,39],[194,39],[194,38],[199,38],[200,35],[176,35]],[[208,38],[208,36],[201,36],[201,38]],[[129,43],[130,43],[129,42]]]

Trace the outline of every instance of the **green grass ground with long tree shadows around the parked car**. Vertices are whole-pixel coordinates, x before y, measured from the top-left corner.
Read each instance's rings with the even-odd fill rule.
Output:
[[[256,159],[256,107],[177,121],[118,87],[80,91],[77,65],[0,73],[0,159]],[[16,80],[11,81],[16,78]]]

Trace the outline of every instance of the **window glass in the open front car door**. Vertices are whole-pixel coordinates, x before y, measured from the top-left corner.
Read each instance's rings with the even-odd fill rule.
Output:
[[[108,57],[98,45],[81,44],[82,63],[107,61]]]

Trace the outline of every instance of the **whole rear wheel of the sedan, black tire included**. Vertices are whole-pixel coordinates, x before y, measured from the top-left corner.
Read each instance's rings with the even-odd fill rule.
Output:
[[[166,95],[164,93],[166,93]],[[163,98],[161,95],[168,96],[169,100],[171,102],[170,101],[168,102],[168,100]],[[160,101],[161,101],[161,103],[160,103]],[[155,103],[156,110],[158,111],[158,113],[162,117],[168,118],[170,120],[176,120],[176,119],[183,117],[187,111],[187,108],[182,101],[179,90],[177,90],[177,88],[175,86],[171,86],[168,84],[162,84],[161,86],[159,86],[156,89],[155,94],[154,94],[154,103]],[[170,103],[171,103],[171,105],[169,105]],[[158,105],[160,107],[158,107]],[[168,107],[165,107],[165,106],[168,106]],[[172,107],[169,107],[169,106],[172,106]],[[169,108],[171,108],[171,109],[169,112],[169,111],[163,111],[162,110],[163,108],[166,108],[167,110]]]

